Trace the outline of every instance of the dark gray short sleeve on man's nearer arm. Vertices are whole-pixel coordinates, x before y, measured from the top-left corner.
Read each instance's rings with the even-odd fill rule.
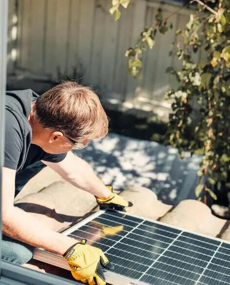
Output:
[[[4,167],[17,170],[22,152],[22,133],[15,116],[6,110],[5,114]]]

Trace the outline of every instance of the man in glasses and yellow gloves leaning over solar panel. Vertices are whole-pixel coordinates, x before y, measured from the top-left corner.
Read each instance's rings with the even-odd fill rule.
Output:
[[[113,269],[103,252],[46,228],[14,207],[14,197],[46,165],[108,207],[132,206],[111,192],[91,166],[70,151],[108,133],[108,119],[97,95],[88,87],[65,82],[41,96],[32,90],[6,93],[5,154],[2,169],[1,258],[25,264],[35,247],[63,255],[77,280],[104,285],[102,266]],[[64,201],[63,201],[64,203]]]

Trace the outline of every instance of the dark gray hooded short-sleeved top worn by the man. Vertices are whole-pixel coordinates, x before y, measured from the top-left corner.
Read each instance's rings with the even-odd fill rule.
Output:
[[[31,144],[28,117],[31,102],[38,96],[31,89],[6,92],[4,167],[17,172],[40,160],[60,162],[66,157],[66,153],[50,154]]]

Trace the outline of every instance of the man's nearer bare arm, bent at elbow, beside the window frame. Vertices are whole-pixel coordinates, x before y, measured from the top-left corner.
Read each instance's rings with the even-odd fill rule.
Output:
[[[16,171],[2,168],[2,232],[35,247],[63,255],[77,241],[55,232],[29,213],[14,207]]]

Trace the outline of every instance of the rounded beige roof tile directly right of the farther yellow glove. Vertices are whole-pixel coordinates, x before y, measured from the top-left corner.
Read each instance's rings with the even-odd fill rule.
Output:
[[[120,196],[134,204],[133,207],[127,208],[128,212],[152,220],[164,216],[172,208],[158,201],[156,194],[144,187],[124,190]]]

